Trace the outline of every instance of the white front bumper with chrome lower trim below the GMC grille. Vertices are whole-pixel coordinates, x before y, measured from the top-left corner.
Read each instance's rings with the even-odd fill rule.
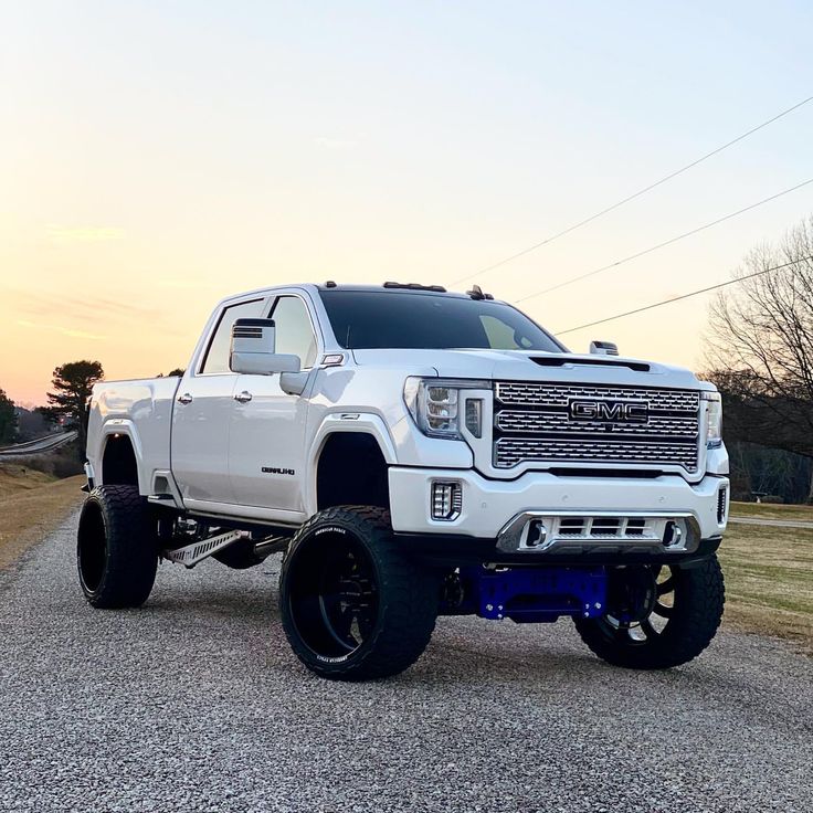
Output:
[[[644,518],[647,527],[658,528],[662,527],[658,521],[674,518],[682,524],[685,536],[673,551],[690,553],[701,540],[719,538],[728,519],[729,483],[727,477],[717,475],[707,475],[695,484],[679,475],[562,477],[546,472],[529,472],[515,481],[494,481],[474,471],[392,467],[389,478],[390,513],[397,534],[489,539],[505,552],[511,550],[511,540],[516,540],[515,549],[521,546],[524,534],[527,539],[528,522],[535,520],[553,520],[551,525],[559,528],[561,520],[572,521],[574,517],[590,521],[617,517],[622,518],[620,527],[623,528],[632,518]],[[432,518],[432,485],[435,482],[461,484],[463,499],[454,519]],[[630,539],[621,534],[610,538],[588,535],[588,538],[574,539],[571,536],[569,541],[571,552],[577,552],[573,547],[577,542],[584,542],[585,550],[644,546],[668,552],[661,539]],[[537,552],[558,548],[561,548],[560,542],[549,543]]]

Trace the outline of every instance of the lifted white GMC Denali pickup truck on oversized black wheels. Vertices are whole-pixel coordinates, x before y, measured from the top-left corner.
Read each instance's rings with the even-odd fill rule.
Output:
[[[689,371],[571,353],[477,287],[254,291],[182,378],[94,388],[80,580],[138,606],[161,559],[285,551],[285,633],[334,679],[401,672],[460,614],[569,616],[612,664],[676,666],[722,614],[720,430]]]

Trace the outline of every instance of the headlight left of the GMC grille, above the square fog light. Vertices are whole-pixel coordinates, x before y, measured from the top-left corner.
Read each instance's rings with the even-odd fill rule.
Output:
[[[483,400],[465,399],[461,390],[487,390],[487,381],[410,377],[403,400],[418,429],[430,437],[462,439],[461,425],[475,437],[483,436]]]

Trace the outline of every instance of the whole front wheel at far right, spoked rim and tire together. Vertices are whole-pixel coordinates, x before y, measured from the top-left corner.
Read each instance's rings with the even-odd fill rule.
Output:
[[[725,585],[716,556],[689,566],[617,568],[608,612],[577,619],[582,641],[600,658],[632,669],[665,669],[697,657],[722,617]]]

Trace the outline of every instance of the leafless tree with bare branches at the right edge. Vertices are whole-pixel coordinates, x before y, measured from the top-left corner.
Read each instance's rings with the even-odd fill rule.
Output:
[[[737,440],[813,457],[813,217],[735,272],[710,306],[707,358]],[[785,265],[792,263],[792,265]],[[767,271],[774,266],[783,268]],[[746,278],[758,272],[759,276]],[[811,484],[813,497],[813,484]]]

